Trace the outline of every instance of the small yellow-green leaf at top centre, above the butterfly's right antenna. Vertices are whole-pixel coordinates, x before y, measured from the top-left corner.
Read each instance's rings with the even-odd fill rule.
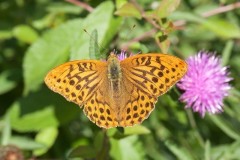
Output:
[[[125,3],[114,14],[123,17],[135,17],[137,19],[142,18],[140,11],[132,3]]]

